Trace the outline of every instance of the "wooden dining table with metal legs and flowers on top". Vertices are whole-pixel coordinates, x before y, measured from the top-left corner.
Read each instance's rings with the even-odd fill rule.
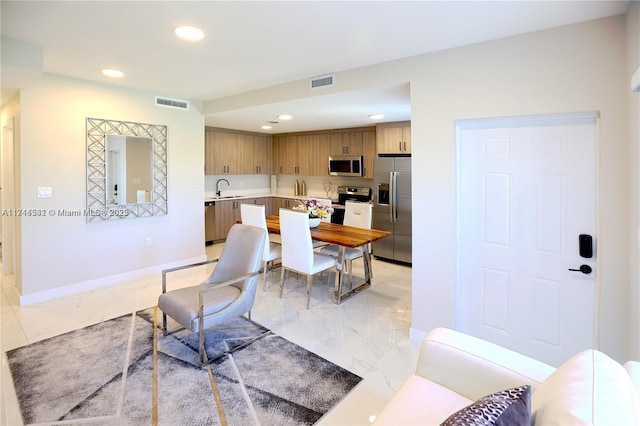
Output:
[[[267,216],[267,229],[269,232],[280,233],[280,217],[278,215]],[[340,304],[351,296],[371,287],[371,255],[366,246],[389,235],[391,235],[391,232],[379,229],[356,228],[330,222],[320,222],[317,227],[311,228],[312,240],[338,246],[337,273],[332,294],[333,303]],[[357,287],[350,288],[349,291],[344,291],[343,289],[344,252],[346,247],[362,248],[362,259],[364,261],[364,282]],[[353,274],[353,271],[351,273]]]

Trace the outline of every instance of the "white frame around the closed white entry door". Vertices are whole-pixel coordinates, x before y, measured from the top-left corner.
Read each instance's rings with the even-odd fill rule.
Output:
[[[600,113],[598,111],[585,111],[585,112],[575,112],[575,113],[558,113],[558,114],[540,114],[540,115],[527,115],[527,116],[507,116],[507,117],[493,117],[493,118],[477,118],[477,119],[461,119],[455,120],[455,147],[454,147],[454,158],[455,158],[455,261],[454,261],[454,297],[455,297],[455,308],[454,308],[454,327],[459,330],[461,327],[460,324],[460,316],[461,316],[461,306],[459,301],[461,300],[461,285],[460,282],[460,272],[459,272],[459,246],[460,246],[460,217],[459,217],[459,208],[460,208],[460,185],[459,185],[459,164],[458,157],[460,153],[460,142],[461,142],[461,131],[466,126],[476,125],[477,127],[515,127],[516,125],[526,125],[527,123],[539,123],[539,122],[549,122],[549,124],[553,124],[554,122],[563,122],[570,119],[579,119],[579,118],[592,118],[595,119],[595,200],[596,200],[596,235],[601,235],[601,225],[600,225],[600,203],[599,203],[599,194],[600,194],[600,179],[599,179],[599,170],[600,164],[598,159],[600,158],[600,141],[599,141],[599,125],[600,125]],[[600,246],[601,247],[601,246]],[[598,250],[600,247],[597,247]],[[601,265],[601,253],[600,255],[595,256],[595,268],[598,273],[595,275],[594,279],[594,312],[593,312],[593,345],[594,349],[599,349],[600,347],[600,317],[601,317],[601,274],[599,271],[602,270]]]

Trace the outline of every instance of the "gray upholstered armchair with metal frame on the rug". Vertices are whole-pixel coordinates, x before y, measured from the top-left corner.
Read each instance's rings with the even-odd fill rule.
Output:
[[[219,259],[162,271],[162,294],[158,297],[162,331],[166,336],[168,315],[187,330],[197,332],[200,364],[210,362],[205,352],[204,330],[247,312],[251,318],[265,238],[264,229],[236,224],[227,235]],[[213,262],[217,265],[202,284],[167,291],[167,273]]]

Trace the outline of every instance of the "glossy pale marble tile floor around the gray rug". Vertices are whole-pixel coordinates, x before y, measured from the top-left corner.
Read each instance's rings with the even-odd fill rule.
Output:
[[[209,258],[222,245],[207,247]],[[210,271],[197,267],[168,276],[170,288],[200,283]],[[354,262],[356,277],[361,261]],[[320,421],[324,425],[367,425],[413,373],[419,342],[409,339],[411,268],[373,260],[373,285],[340,305],[330,302],[333,273],[316,276],[311,309],[306,309],[304,277],[295,274],[280,299],[280,269],[262,278],[252,318],[277,334],[349,369],[364,380]],[[160,274],[118,283],[61,299],[18,305],[12,276],[2,275],[0,425],[21,425],[5,352],[109,318],[154,306],[161,291]]]

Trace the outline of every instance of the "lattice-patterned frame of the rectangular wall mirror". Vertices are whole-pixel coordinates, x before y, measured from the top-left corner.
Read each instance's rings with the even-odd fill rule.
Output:
[[[107,204],[107,136],[147,137],[152,146],[151,201]],[[87,117],[87,223],[167,214],[167,126]]]

